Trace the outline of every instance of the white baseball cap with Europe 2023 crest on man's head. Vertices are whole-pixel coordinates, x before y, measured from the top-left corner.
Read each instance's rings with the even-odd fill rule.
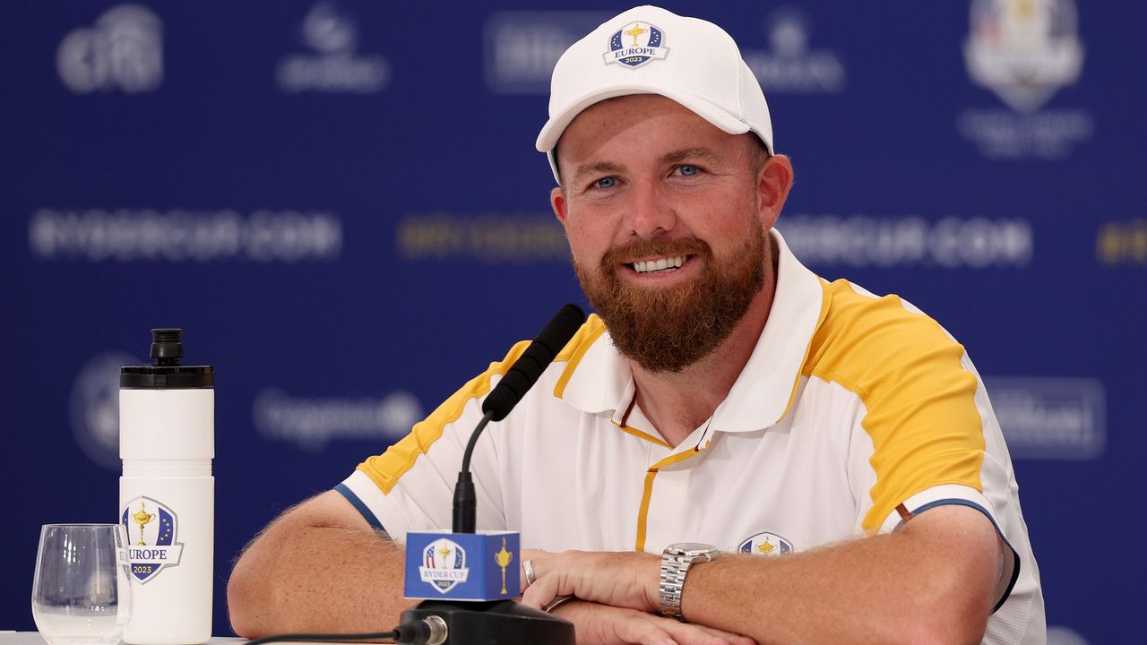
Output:
[[[760,84],[733,37],[711,22],[660,7],[634,7],[606,21],[562,54],[549,90],[549,121],[538,134],[557,176],[554,147],[590,106],[629,94],[661,94],[729,134],[754,132],[773,153]]]

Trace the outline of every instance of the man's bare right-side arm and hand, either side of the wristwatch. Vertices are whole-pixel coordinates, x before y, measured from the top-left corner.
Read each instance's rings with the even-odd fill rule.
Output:
[[[661,559],[647,553],[525,552],[523,601],[574,595],[657,609]],[[757,643],[980,643],[1012,575],[1012,552],[978,511],[941,506],[902,530],[807,553],[721,555],[690,568],[686,620]]]

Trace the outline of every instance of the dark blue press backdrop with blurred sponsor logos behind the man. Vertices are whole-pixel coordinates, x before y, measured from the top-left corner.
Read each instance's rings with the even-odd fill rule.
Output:
[[[724,25],[759,77],[796,168],[779,227],[797,256],[969,349],[1052,640],[1125,640],[1145,570],[1147,9],[668,7]],[[39,524],[115,518],[116,371],[149,328],[184,327],[217,370],[229,634],[231,562],[262,526],[579,300],[533,139],[557,55],[623,8],[6,2],[0,629],[33,629]]]

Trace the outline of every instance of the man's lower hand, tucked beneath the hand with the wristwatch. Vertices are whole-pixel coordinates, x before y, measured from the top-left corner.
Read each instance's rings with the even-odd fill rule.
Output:
[[[574,623],[578,645],[756,645],[747,636],[584,600],[564,603],[554,614]]]

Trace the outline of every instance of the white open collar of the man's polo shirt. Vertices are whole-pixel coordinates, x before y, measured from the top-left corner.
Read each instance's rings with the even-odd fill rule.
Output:
[[[778,267],[768,321],[749,363],[713,413],[713,432],[759,430],[783,418],[822,314],[825,292],[820,278],[796,259],[775,228],[770,236],[778,251]],[[568,380],[563,379],[563,391],[555,394],[582,412],[612,411],[616,417],[633,398],[633,373],[614,348],[608,331],[567,370],[572,372]]]

